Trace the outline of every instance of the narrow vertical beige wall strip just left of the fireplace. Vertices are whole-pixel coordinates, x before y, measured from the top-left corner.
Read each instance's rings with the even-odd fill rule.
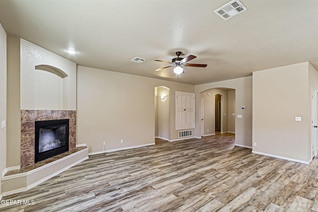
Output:
[[[20,38],[7,36],[6,167],[20,165]]]

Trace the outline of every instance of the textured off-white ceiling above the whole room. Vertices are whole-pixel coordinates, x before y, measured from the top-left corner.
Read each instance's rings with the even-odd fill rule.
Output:
[[[224,21],[214,10],[228,2],[0,0],[0,23],[80,66],[189,84],[306,61],[318,70],[318,0],[241,0],[248,10]],[[171,61],[176,51],[208,67],[185,67],[180,77],[172,68],[154,71],[167,66],[154,60]]]

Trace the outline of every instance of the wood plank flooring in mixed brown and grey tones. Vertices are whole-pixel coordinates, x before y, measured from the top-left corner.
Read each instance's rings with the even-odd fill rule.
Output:
[[[2,198],[9,212],[318,212],[318,159],[309,165],[251,153],[226,133],[156,140],[92,155],[36,186]],[[32,202],[34,204],[32,205]]]

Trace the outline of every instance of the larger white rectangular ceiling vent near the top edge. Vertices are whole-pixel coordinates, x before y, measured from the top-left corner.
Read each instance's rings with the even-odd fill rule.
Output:
[[[228,20],[246,10],[247,8],[242,2],[240,2],[239,0],[233,0],[215,10],[214,13],[220,16],[223,20]]]

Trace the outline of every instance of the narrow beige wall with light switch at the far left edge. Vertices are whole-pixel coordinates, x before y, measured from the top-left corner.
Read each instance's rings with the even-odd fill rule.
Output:
[[[0,24],[0,123],[6,120],[6,33]],[[1,125],[0,125],[1,126]],[[0,128],[0,173],[6,167],[6,128]],[[0,186],[0,195],[1,192]]]

